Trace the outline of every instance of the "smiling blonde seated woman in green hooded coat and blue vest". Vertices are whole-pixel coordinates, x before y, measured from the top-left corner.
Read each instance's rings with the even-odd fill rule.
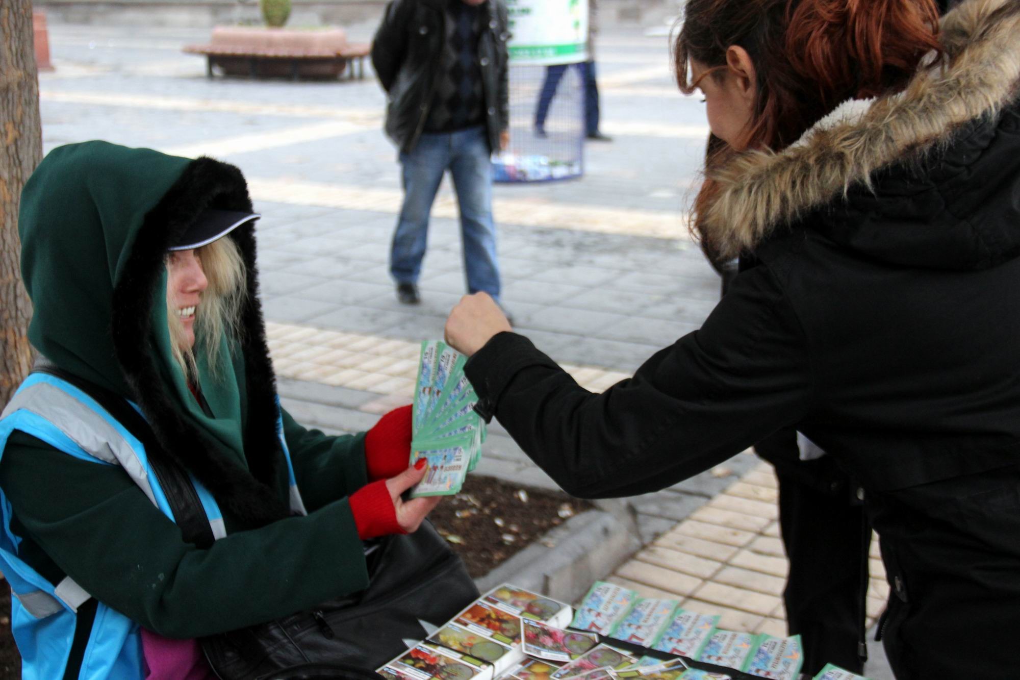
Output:
[[[105,142],[55,149],[26,185],[41,360],[129,400],[221,517],[214,543],[188,542],[138,440],[33,374],[0,420],[23,677],[206,677],[195,638],[363,590],[363,540],[415,531],[435,506],[400,497],[425,474],[407,468],[409,406],[340,437],[279,407],[257,216],[232,165]]]

